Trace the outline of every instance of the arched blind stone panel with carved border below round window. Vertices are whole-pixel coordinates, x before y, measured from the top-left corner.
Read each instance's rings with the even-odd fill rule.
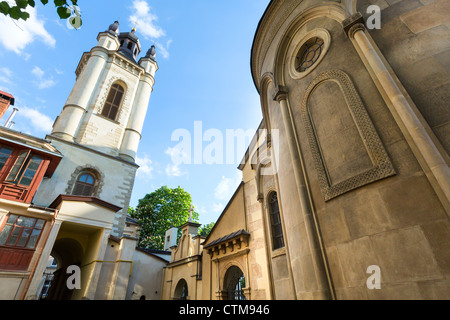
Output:
[[[325,91],[320,91],[322,86],[326,88]],[[324,93],[324,95],[312,99],[315,92]],[[314,101],[315,99],[316,101]],[[321,103],[318,103],[317,99],[320,99],[319,102]],[[328,117],[332,121],[328,127],[332,128],[325,126],[326,130],[335,129],[342,133],[344,128],[348,128],[346,132],[350,132],[350,139],[344,139],[343,141],[341,139],[341,143],[335,145],[330,144],[330,141],[323,141],[323,139],[321,141],[318,124],[322,126],[324,124],[320,123],[321,119],[317,119],[317,114],[320,115],[320,112],[314,112],[314,108],[320,108],[324,105],[335,107],[328,105],[329,101],[338,102],[338,107],[344,106],[345,108],[346,106],[348,108],[348,110],[338,110],[335,117]],[[329,111],[322,110],[322,115],[325,114],[323,112]],[[349,113],[351,117],[347,116],[344,119],[342,114],[345,112]],[[319,186],[325,201],[395,175],[394,167],[378,133],[353,82],[346,73],[340,70],[330,70],[315,78],[304,94],[301,113],[318,175]],[[316,118],[314,118],[314,114],[316,114]],[[330,134],[326,137],[332,139],[333,135]],[[359,146],[359,148],[355,146]],[[341,153],[339,153],[339,150],[341,150]],[[352,152],[347,152],[348,150],[352,150]],[[353,150],[355,151],[353,152]],[[328,157],[325,157],[324,154],[328,154]],[[354,160],[356,165],[345,160],[346,157]],[[344,158],[344,160],[341,158]],[[335,167],[332,166],[332,162],[336,162],[334,160],[338,162]]]

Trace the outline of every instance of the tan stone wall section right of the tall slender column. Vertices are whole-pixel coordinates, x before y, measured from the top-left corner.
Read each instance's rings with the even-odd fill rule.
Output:
[[[450,3],[446,0],[358,1],[358,11],[377,4],[381,29],[370,30],[383,55],[450,152]]]

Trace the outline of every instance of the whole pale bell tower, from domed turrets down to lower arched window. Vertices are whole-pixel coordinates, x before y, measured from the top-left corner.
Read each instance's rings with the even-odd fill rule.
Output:
[[[64,155],[52,181],[43,181],[35,203],[58,196],[98,198],[122,208],[111,234],[121,236],[134,186],[135,163],[158,64],[152,46],[139,60],[136,30],[119,23],[100,32],[85,52],[76,82],[47,139]]]

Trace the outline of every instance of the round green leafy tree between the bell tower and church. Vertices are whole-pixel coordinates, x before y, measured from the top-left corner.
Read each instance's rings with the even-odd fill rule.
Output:
[[[164,249],[166,231],[188,222],[191,205],[191,195],[181,187],[171,189],[163,186],[139,200],[136,209],[130,213],[141,225],[138,245]],[[193,211],[193,222],[198,222],[198,217],[198,213]],[[181,230],[178,231],[180,236]]]

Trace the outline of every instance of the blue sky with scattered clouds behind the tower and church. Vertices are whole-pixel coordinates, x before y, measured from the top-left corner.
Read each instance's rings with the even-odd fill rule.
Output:
[[[262,115],[250,50],[269,0],[80,0],[79,30],[59,20],[52,1],[36,3],[26,23],[0,15],[0,90],[13,94],[20,109],[14,129],[41,138],[50,133],[82,53],[114,20],[121,31],[136,25],[141,56],[155,43],[160,69],[130,205],[160,186],[181,186],[191,193],[200,222],[216,221],[241,180],[237,166],[243,153],[233,164],[177,165],[171,152],[178,142],[171,136],[177,129],[193,135],[196,121],[203,132],[217,129],[224,137],[227,129],[256,131]]]

